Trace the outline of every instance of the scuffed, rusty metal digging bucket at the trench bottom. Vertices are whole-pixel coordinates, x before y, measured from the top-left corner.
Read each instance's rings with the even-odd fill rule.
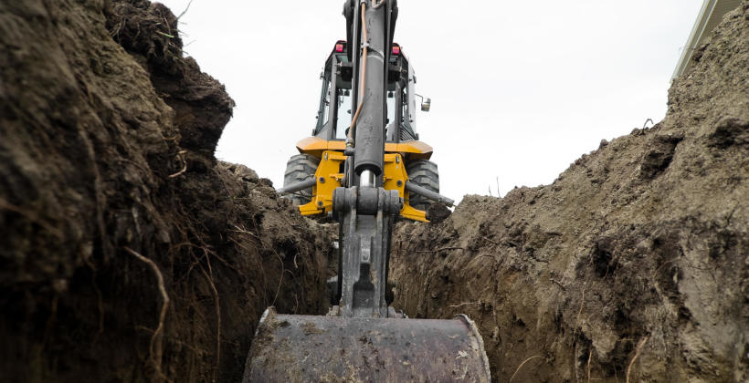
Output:
[[[249,353],[246,383],[491,381],[483,342],[465,316],[433,320],[267,313]]]

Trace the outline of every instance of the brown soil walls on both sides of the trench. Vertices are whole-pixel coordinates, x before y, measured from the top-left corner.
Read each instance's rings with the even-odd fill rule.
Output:
[[[744,0],[655,127],[399,223],[396,309],[468,314],[496,381],[749,380],[747,21]],[[0,380],[233,382],[267,306],[327,311],[336,228],[216,160],[234,102],[177,22],[0,3]]]

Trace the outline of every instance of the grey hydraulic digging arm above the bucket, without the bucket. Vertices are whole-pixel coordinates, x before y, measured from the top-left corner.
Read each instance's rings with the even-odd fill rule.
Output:
[[[333,193],[343,250],[338,273],[340,311],[333,314],[387,317],[390,237],[393,220],[403,206],[398,192],[386,191],[380,181],[385,155],[385,64],[397,8],[395,0],[355,4],[349,1],[343,10],[347,25],[355,31],[354,47],[360,47],[360,53],[353,59],[354,78],[359,81],[353,98],[356,113],[346,140],[346,166],[353,172],[348,171],[345,186]]]

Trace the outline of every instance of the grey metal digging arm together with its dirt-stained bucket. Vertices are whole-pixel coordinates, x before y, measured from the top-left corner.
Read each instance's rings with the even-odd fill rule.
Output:
[[[337,288],[328,316],[261,319],[248,357],[250,381],[491,381],[476,326],[408,319],[387,305],[393,223],[403,208],[383,187],[385,92],[396,0],[344,4],[353,61],[353,105],[343,186],[333,192],[340,224]],[[352,40],[353,39],[353,40]]]

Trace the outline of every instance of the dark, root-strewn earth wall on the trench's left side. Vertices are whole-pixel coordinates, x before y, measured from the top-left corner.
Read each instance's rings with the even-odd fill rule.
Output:
[[[216,161],[234,102],[145,0],[0,4],[0,376],[236,381],[329,233]]]

